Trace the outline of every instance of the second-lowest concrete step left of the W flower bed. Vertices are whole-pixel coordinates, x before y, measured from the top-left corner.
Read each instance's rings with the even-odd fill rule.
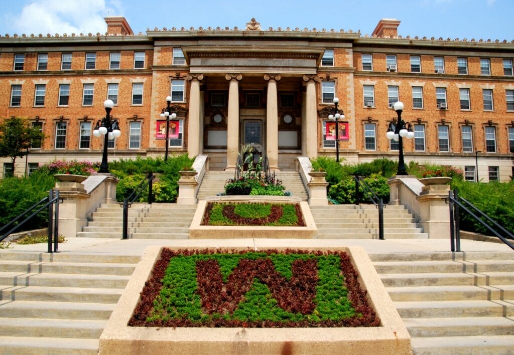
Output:
[[[62,320],[39,318],[0,318],[3,337],[52,337],[100,339],[107,320]]]

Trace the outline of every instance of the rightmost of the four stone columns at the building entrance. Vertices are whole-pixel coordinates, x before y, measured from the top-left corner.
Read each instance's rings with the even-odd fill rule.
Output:
[[[303,80],[306,82],[306,95],[305,95],[305,142],[302,141],[305,146],[305,153],[309,158],[316,158],[318,156],[318,120],[316,113],[317,99],[316,99],[316,81],[317,78],[314,76],[303,76]],[[303,138],[303,137],[302,137]]]

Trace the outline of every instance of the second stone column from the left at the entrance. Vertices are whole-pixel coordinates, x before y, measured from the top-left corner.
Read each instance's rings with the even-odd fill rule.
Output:
[[[228,89],[228,119],[227,119],[227,167],[225,170],[234,171],[239,153],[239,83],[241,74],[227,74],[225,79],[230,81]]]

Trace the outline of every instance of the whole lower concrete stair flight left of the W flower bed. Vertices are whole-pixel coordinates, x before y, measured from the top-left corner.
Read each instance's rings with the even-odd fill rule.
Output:
[[[0,252],[0,353],[97,354],[139,258]]]

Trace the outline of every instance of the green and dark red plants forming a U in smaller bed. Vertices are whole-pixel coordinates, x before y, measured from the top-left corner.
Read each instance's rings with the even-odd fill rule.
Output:
[[[305,226],[298,203],[217,203],[206,206],[204,226]]]

